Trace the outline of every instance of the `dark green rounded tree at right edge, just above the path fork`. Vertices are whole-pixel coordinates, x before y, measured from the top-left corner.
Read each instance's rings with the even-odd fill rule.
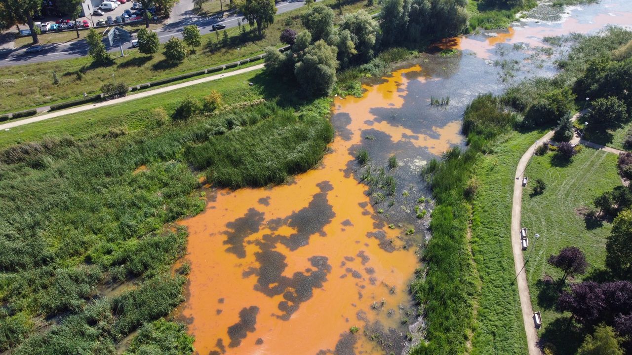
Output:
[[[597,99],[585,115],[588,128],[595,131],[616,129],[623,126],[629,119],[628,107],[623,100],[614,96]]]

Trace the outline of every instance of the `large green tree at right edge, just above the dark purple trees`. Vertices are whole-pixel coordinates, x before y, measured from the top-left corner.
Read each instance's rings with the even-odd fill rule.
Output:
[[[632,210],[619,212],[605,243],[605,265],[613,274],[632,278]]]

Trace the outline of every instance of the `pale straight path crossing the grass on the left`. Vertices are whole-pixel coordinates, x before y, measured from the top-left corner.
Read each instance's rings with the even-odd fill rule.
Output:
[[[96,104],[88,104],[88,105],[83,105],[83,106],[77,106],[77,107],[71,107],[70,109],[65,109],[65,110],[59,110],[56,112],[51,112],[48,114],[43,114],[42,116],[35,116],[35,117],[30,117],[27,119],[21,119],[20,121],[13,121],[13,122],[9,122],[9,123],[5,123],[5,124],[0,124],[0,130],[6,130],[6,129],[11,129],[13,127],[17,127],[17,126],[22,126],[23,124],[29,124],[29,123],[33,123],[33,122],[39,122],[39,121],[44,121],[45,119],[50,119],[50,118],[54,118],[54,117],[59,117],[59,116],[64,116],[67,114],[73,114],[76,112],[83,112],[83,111],[88,111],[88,110],[92,110],[92,109],[97,109],[99,107],[105,107],[105,106],[109,106],[109,105],[116,105],[116,104],[120,104],[121,102],[128,102],[131,100],[136,100],[136,99],[140,99],[142,97],[149,97],[152,95],[156,95],[158,93],[163,93],[163,92],[169,92],[169,91],[173,91],[179,88],[185,88],[185,87],[190,87],[191,85],[197,85],[200,83],[206,83],[207,81],[213,81],[213,80],[218,80],[221,78],[228,78],[228,76],[234,76],[234,75],[240,75],[243,73],[248,73],[248,71],[255,71],[258,69],[263,69],[264,68],[264,64],[257,64],[255,66],[250,66],[248,68],[243,68],[243,69],[237,69],[235,71],[231,71],[229,73],[224,73],[224,74],[218,74],[218,75],[212,75],[212,76],[207,76],[206,78],[200,78],[197,80],[191,80],[191,81],[186,81],[185,83],[179,83],[176,85],[169,85],[168,87],[161,87],[161,88],[157,88],[154,90],[147,90],[145,92],[139,92],[139,93],[135,93],[132,95],[127,95],[125,97],[121,97],[119,99],[113,99],[113,100],[108,100],[108,101],[104,101],[104,102],[97,102]]]

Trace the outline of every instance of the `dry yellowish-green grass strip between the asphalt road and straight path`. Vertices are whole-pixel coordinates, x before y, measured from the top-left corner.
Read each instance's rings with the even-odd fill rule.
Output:
[[[369,12],[379,9],[378,5],[367,6],[366,1],[348,1],[341,5],[334,0],[322,3],[339,10],[339,14],[364,8]],[[376,2],[377,3],[377,2]],[[265,47],[280,45],[279,35],[284,28],[303,30],[300,16],[307,6],[276,16],[263,38],[256,35],[245,23],[245,33],[238,27],[228,28],[202,36],[202,46],[179,64],[164,59],[161,51],[153,57],[141,54],[137,49],[126,51],[125,57],[117,57],[110,66],[93,66],[90,57],[78,57],[63,61],[6,66],[0,68],[0,112],[15,112],[30,107],[54,104],[65,100],[79,99],[83,93],[96,94],[103,83],[112,80],[126,85],[138,85],[170,76],[181,75],[218,64],[252,57],[264,52]],[[337,16],[339,18],[341,16]],[[224,42],[223,32],[228,33]],[[219,37],[216,35],[219,33]],[[52,72],[59,78],[53,84]],[[78,74],[80,73],[80,74]]]

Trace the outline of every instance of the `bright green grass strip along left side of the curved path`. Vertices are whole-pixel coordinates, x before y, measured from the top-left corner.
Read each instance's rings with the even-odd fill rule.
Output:
[[[471,354],[526,354],[511,251],[511,201],[518,160],[544,133],[512,132],[475,168],[471,248],[482,281]]]

